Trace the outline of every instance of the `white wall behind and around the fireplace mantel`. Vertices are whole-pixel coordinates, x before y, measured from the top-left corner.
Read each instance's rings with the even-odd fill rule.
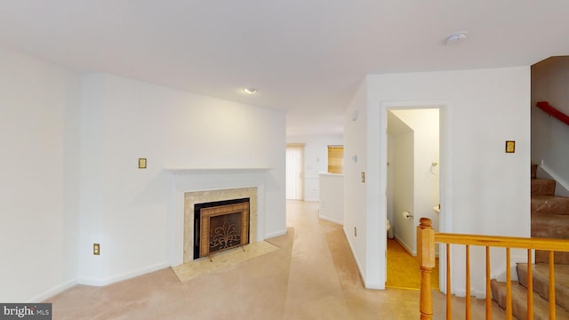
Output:
[[[81,283],[170,265],[164,168],[272,168],[264,236],[285,232],[284,113],[108,75],[85,76],[83,93]]]

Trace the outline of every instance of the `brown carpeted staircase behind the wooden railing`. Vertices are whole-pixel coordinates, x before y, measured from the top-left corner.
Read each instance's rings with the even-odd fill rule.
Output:
[[[554,180],[537,179],[532,164],[532,237],[569,238],[569,197],[554,196]],[[535,252],[533,273],[533,318],[549,319],[549,252]],[[527,318],[527,263],[517,264],[519,283],[512,284],[512,311]],[[569,252],[555,253],[557,319],[569,319]],[[493,300],[506,308],[506,284],[492,281]]]

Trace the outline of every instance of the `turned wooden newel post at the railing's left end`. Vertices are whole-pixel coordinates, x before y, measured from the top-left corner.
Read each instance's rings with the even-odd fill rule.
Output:
[[[433,318],[430,273],[435,268],[435,229],[429,218],[421,218],[417,227],[417,257],[421,266],[421,320]]]

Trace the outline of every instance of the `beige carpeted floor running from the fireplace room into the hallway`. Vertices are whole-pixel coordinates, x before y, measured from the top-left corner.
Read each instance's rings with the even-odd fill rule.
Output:
[[[76,285],[47,300],[53,319],[416,319],[419,291],[366,290],[341,226],[318,220],[317,203],[287,204],[279,249],[180,282],[171,268],[105,287]],[[435,319],[445,296],[433,292]],[[464,318],[453,299],[453,318]],[[473,318],[484,318],[474,301]],[[502,319],[503,312],[493,313]]]

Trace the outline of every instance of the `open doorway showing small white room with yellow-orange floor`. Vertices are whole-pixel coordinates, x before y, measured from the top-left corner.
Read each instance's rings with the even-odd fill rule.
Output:
[[[439,108],[432,106],[387,109],[387,287],[419,289],[416,226],[427,217],[438,231],[439,119]],[[438,275],[434,270],[434,288]]]

